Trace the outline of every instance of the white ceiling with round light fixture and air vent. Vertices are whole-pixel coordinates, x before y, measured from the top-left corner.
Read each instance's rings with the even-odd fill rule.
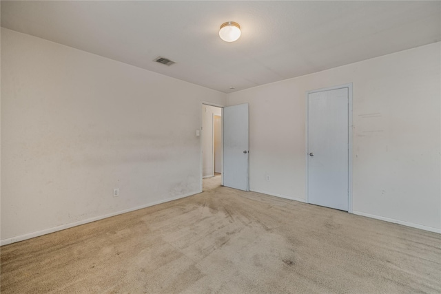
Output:
[[[1,26],[229,93],[441,41],[441,1],[1,1]]]

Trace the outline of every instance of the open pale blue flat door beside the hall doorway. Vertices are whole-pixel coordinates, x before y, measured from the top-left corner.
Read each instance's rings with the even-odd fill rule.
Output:
[[[223,109],[223,185],[249,191],[249,107]]]

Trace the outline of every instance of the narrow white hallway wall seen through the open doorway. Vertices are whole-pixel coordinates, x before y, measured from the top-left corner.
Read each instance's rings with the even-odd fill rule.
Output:
[[[202,106],[202,139],[203,139],[203,177],[214,176],[214,129],[213,115],[221,115],[222,108],[212,105]]]

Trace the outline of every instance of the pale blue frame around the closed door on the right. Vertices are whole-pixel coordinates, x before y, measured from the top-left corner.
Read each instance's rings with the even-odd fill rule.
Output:
[[[308,121],[309,121],[309,103],[308,96],[309,94],[316,92],[326,92],[330,90],[338,90],[348,88],[348,210],[347,212],[352,213],[352,83],[347,83],[344,85],[338,85],[334,87],[325,87],[316,90],[307,91],[305,94],[305,105],[306,105],[306,121],[305,121],[305,138],[306,138],[306,152],[305,152],[305,165],[306,165],[306,202],[309,203],[309,164],[308,164],[308,150],[309,150],[309,137],[308,137]]]

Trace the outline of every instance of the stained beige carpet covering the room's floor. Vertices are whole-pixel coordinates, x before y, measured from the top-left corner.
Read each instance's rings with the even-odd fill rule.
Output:
[[[440,234],[218,178],[195,196],[2,246],[1,292],[441,292]]]

